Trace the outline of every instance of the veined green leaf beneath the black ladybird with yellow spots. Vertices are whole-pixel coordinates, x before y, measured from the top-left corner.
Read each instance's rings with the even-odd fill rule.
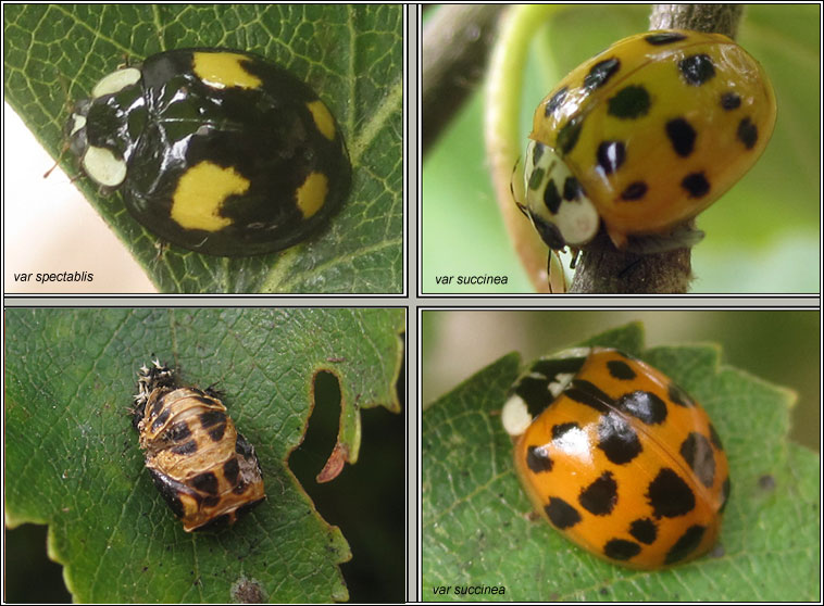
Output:
[[[187,47],[250,50],[317,91],[340,123],[353,182],[327,228],[250,258],[170,247],[104,195],[75,181],[161,292],[400,292],[402,290],[401,5],[16,4],[5,7],[5,99],[55,157],[68,102],[124,61]],[[71,154],[61,164],[78,168]],[[48,220],[43,217],[43,220]]]

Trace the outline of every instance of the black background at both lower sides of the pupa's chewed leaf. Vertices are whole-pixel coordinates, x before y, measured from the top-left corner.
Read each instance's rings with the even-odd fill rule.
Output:
[[[346,465],[332,482],[319,484],[315,476],[335,446],[340,417],[338,382],[328,373],[319,374],[316,405],[305,439],[289,457],[289,468],[317,510],[340,528],[352,550],[352,559],[341,565],[352,603],[403,603],[405,598],[405,377],[401,375],[401,413],[379,406],[363,411],[358,463]],[[13,557],[5,558],[4,603],[72,602],[63,583],[63,567],[46,556],[46,528],[26,523],[5,530],[4,555]]]

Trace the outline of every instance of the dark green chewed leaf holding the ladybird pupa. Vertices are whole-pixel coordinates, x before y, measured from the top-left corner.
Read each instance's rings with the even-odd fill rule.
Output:
[[[338,444],[357,459],[360,411],[399,408],[403,323],[402,310],[9,310],[7,525],[49,525],[78,602],[346,599],[349,546],[287,459],[320,371],[339,381]],[[143,469],[128,409],[155,356],[216,383],[255,447],[267,500],[230,529],[184,532]]]

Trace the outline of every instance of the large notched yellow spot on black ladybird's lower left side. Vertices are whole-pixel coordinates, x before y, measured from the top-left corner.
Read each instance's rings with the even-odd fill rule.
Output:
[[[249,179],[211,162],[189,168],[172,198],[172,220],[184,229],[217,231],[232,224],[221,216],[223,203],[229,195],[240,195],[249,189]]]

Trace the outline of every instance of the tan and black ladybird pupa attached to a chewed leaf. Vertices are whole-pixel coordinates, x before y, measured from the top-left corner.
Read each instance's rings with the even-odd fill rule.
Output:
[[[259,505],[266,495],[258,456],[217,394],[179,387],[157,361],[138,377],[133,422],[146,467],[184,530],[232,525]]]

